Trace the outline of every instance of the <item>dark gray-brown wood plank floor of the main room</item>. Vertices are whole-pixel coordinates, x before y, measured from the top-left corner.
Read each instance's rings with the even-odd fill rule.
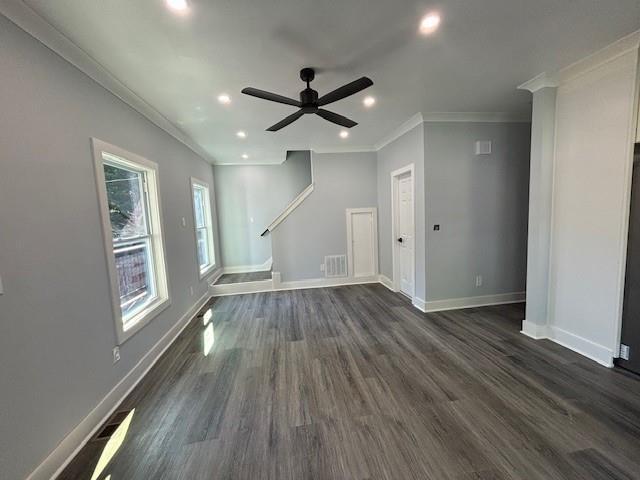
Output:
[[[521,335],[523,305],[422,314],[381,285],[210,304],[211,351],[195,319],[99,479],[640,478],[638,378]]]

